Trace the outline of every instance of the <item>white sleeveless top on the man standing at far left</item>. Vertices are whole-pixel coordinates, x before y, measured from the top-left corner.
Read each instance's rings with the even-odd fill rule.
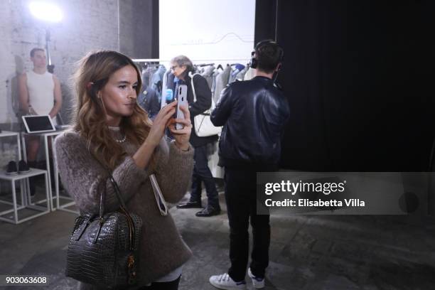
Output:
[[[40,75],[31,70],[26,76],[29,105],[37,114],[48,114],[54,105],[53,75],[47,71]]]

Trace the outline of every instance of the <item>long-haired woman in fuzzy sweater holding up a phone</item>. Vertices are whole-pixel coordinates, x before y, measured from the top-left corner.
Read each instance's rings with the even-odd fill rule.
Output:
[[[189,144],[190,114],[173,119],[176,102],[163,107],[151,122],[136,104],[141,77],[134,62],[122,53],[97,51],[80,61],[75,73],[73,129],[55,139],[60,178],[80,212],[98,213],[105,192],[105,210],[119,202],[109,171],[118,183],[127,210],[143,222],[139,284],[134,289],[178,289],[182,265],[191,252],[181,239],[171,214],[162,215],[149,175],[154,173],[169,203],[186,193],[193,171]],[[175,129],[175,122],[184,125]],[[166,128],[175,137],[164,137]],[[96,289],[81,284],[80,289]]]

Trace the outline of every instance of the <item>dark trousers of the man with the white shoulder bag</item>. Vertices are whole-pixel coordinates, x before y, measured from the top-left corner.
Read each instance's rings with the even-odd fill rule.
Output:
[[[190,201],[201,202],[201,191],[203,190],[201,182],[203,181],[207,192],[208,205],[213,206],[213,208],[220,208],[216,183],[210,168],[208,168],[208,144],[195,147],[193,159],[195,160],[195,166],[193,166]]]

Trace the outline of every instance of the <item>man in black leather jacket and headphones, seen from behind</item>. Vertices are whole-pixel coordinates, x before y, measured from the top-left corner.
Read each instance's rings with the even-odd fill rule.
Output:
[[[210,277],[221,289],[245,289],[249,256],[249,218],[252,225],[252,262],[248,274],[254,288],[264,287],[269,264],[269,215],[257,215],[257,171],[276,171],[281,155],[281,135],[289,119],[289,104],[274,86],[272,77],[284,52],[274,41],[262,41],[252,53],[255,77],[232,82],[220,95],[211,114],[215,126],[223,126],[219,142],[220,166],[225,167],[225,199],[230,222],[228,274]]]

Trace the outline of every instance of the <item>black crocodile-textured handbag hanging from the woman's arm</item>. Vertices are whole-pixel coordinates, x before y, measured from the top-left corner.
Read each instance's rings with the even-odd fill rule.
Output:
[[[109,180],[119,200],[119,210],[104,213],[103,191],[100,214],[76,218],[65,274],[101,288],[126,289],[137,282],[142,220],[127,211],[116,181],[111,175]]]

